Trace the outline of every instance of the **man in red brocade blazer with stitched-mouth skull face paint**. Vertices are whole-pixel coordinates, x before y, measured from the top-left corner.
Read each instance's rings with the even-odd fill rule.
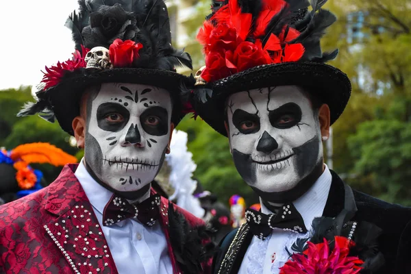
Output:
[[[47,188],[0,208],[1,273],[210,273],[201,219],[151,188],[194,79],[164,1],[81,0],[73,59],[46,68],[20,115],[58,120],[84,148]],[[18,259],[16,259],[18,258]]]

